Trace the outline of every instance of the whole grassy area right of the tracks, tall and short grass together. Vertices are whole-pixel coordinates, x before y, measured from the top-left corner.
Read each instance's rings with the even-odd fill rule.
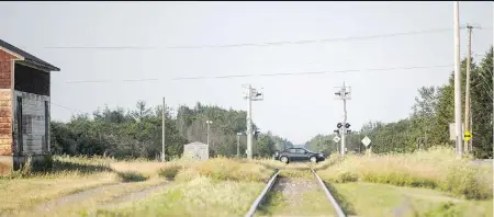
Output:
[[[317,173],[348,214],[492,216],[493,167],[435,148],[406,155],[329,159]]]

